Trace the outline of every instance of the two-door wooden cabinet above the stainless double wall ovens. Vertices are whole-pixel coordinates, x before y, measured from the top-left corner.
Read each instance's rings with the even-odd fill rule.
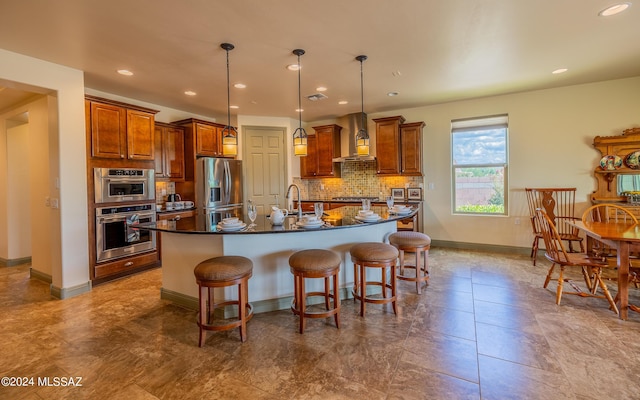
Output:
[[[156,110],[86,96],[91,157],[154,159]]]

